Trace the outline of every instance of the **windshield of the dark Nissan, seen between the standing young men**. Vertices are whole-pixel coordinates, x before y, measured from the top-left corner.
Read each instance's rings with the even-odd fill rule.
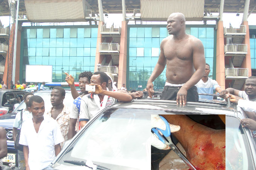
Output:
[[[33,93],[34,95],[38,95],[41,96],[44,99],[44,107],[45,107],[45,111],[49,111],[50,108],[52,107],[51,101],[50,101],[50,94],[51,91],[47,90],[47,91],[38,91]],[[65,95],[65,99],[63,101],[64,105],[66,105],[66,107],[69,108],[69,110],[71,111],[72,109],[72,103],[73,103],[73,97],[71,95],[71,91],[66,91],[66,95]],[[21,102],[21,104],[15,108],[14,113],[17,113],[18,111],[22,110],[26,108],[26,104],[23,102]]]

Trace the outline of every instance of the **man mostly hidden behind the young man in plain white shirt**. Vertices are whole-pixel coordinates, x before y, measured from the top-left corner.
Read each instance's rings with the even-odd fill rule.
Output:
[[[24,95],[24,103],[26,104],[26,108],[22,110],[22,122],[21,122],[21,111],[16,114],[13,128],[12,128],[12,137],[13,141],[16,141],[16,136],[18,132],[18,128],[21,128],[22,123],[27,119],[32,119],[32,114],[29,112],[29,99],[34,96],[33,93],[26,93]],[[16,147],[16,146],[14,146]],[[24,162],[24,154],[22,150],[18,150],[18,168],[19,170],[25,169],[25,162]]]

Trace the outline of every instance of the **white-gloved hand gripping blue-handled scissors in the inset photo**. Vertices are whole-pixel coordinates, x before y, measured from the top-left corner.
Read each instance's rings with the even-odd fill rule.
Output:
[[[179,125],[172,125],[170,124],[171,132],[177,132],[180,130]],[[151,129],[152,128],[158,128],[158,129],[166,129],[165,122],[161,119],[161,117],[158,114],[151,114]],[[161,133],[161,132],[160,132]],[[168,150],[171,149],[170,146],[164,144],[162,141],[160,141],[154,133],[151,132],[151,145],[156,147],[157,149],[163,149]]]

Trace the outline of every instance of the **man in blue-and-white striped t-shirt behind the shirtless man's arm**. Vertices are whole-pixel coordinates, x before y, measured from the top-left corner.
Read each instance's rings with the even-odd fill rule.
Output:
[[[203,78],[198,81],[198,83],[195,85],[197,86],[198,93],[207,93],[207,94],[213,94],[213,90],[220,93],[222,91],[221,87],[217,83],[217,81],[212,80],[210,77],[208,77],[210,73],[210,65],[206,63],[204,76]],[[213,96],[208,95],[198,95],[199,100],[213,100]]]

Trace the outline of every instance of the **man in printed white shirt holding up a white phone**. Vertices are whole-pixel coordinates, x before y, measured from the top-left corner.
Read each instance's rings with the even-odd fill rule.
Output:
[[[114,104],[116,99],[123,102],[132,100],[131,95],[108,90],[108,75],[104,72],[94,72],[89,85],[95,85],[95,92],[89,91],[88,95],[82,97],[79,116],[81,128],[99,111]]]

